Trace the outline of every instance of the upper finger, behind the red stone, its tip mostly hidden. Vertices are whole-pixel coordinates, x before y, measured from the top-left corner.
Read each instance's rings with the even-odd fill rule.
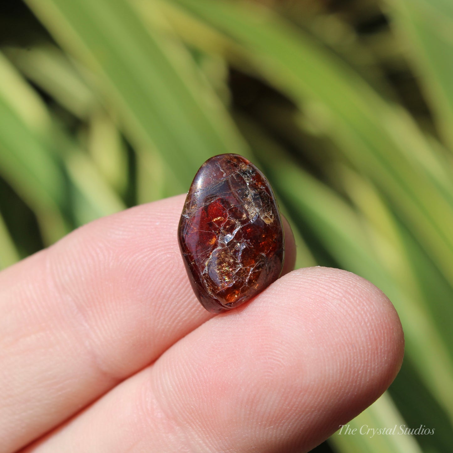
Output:
[[[61,423],[212,317],[179,253],[183,202],[92,222],[0,274],[1,451]]]

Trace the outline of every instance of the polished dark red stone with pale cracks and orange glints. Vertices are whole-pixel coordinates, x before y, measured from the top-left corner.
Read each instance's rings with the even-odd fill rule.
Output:
[[[178,241],[193,290],[220,313],[280,276],[284,232],[269,182],[238,154],[208,159],[184,203]]]

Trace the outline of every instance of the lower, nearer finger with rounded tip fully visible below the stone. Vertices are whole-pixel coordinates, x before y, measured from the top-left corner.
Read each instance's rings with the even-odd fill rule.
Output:
[[[386,390],[403,350],[398,315],[371,283],[296,270],[26,452],[307,451]]]

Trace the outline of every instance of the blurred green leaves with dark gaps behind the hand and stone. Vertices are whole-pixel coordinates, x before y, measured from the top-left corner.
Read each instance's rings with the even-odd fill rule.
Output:
[[[400,374],[351,427],[435,429],[317,451],[451,451],[452,151],[448,0],[0,3],[0,267],[245,155],[297,266],[355,272],[400,314]]]

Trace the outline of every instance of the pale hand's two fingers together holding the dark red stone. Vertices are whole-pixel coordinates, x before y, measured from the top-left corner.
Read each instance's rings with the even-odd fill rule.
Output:
[[[287,224],[285,275],[204,310],[178,250],[183,202],[92,222],[0,274],[1,452],[299,452],[393,381],[390,301],[346,271],[290,272]]]

